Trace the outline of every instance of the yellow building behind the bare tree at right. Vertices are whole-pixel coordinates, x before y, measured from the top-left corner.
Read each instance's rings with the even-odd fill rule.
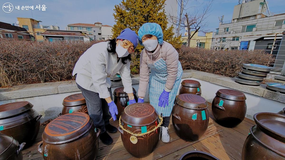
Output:
[[[191,32],[191,35],[194,34],[195,31]],[[188,44],[188,32],[184,34],[183,37],[181,37],[181,41],[183,45]],[[211,48],[211,42],[212,42],[212,36],[213,32],[205,33],[205,36],[198,35],[198,32],[194,34],[194,36],[190,40],[190,47],[199,47],[199,48],[205,48],[210,49]]]

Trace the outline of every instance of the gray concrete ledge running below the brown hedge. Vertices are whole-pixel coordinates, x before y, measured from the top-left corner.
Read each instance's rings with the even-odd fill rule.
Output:
[[[182,78],[196,78],[231,89],[236,89],[245,93],[250,93],[267,99],[276,100],[285,103],[285,95],[266,89],[266,85],[248,86],[236,83],[231,77],[216,75],[196,70],[184,70]],[[132,83],[139,84],[139,75],[132,75]],[[122,81],[111,82],[111,87],[123,86]],[[57,93],[68,93],[80,91],[75,81],[62,81],[50,83],[38,83],[29,85],[13,86],[7,89],[0,89],[0,100],[20,99],[27,97],[36,97],[42,95],[52,95]]]

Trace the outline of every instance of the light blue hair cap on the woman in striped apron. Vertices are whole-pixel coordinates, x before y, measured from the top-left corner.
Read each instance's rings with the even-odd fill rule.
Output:
[[[142,37],[146,34],[151,34],[157,37],[158,43],[162,45],[163,33],[161,26],[157,23],[144,23],[138,31],[139,42],[143,45]]]

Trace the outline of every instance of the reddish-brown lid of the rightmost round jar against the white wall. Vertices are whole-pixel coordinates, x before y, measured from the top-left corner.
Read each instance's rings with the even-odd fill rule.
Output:
[[[243,94],[241,91],[233,89],[219,89],[216,95],[224,99],[235,100],[235,101],[243,101],[247,99],[245,97],[245,94]]]

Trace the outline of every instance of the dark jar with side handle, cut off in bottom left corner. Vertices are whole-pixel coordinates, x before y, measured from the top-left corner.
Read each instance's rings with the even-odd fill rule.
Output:
[[[19,144],[11,136],[0,134],[0,159],[2,160],[22,160],[22,149],[26,143]]]

